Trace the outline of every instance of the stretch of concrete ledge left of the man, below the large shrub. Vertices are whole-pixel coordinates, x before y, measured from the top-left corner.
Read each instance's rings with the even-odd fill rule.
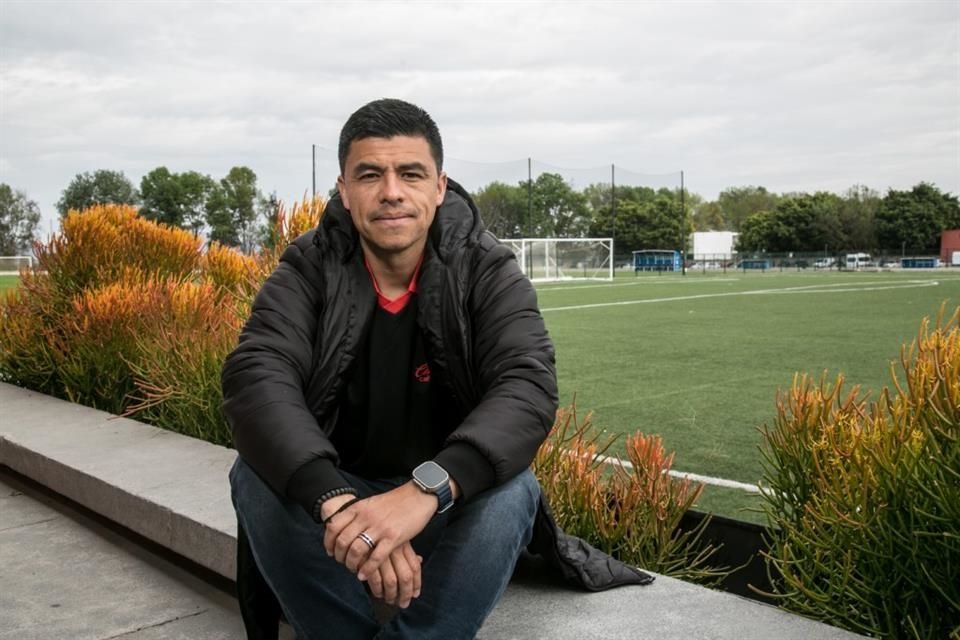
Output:
[[[233,579],[236,452],[0,384],[0,464]]]

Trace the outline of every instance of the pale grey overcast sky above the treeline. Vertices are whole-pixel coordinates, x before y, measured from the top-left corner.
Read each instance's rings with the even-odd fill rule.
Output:
[[[287,202],[343,121],[429,111],[451,177],[960,194],[960,2],[0,0],[0,182],[246,165]]]

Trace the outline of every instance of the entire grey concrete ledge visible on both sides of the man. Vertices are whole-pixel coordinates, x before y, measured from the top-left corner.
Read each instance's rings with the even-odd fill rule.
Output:
[[[0,383],[0,465],[222,576],[235,575],[231,449]],[[523,572],[486,640],[841,640],[860,637],[775,607],[658,576],[646,587],[572,591]]]

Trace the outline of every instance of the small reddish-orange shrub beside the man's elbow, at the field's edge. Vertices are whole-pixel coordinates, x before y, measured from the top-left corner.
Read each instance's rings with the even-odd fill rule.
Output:
[[[576,406],[557,412],[533,469],[557,523],[568,533],[627,564],[712,584],[727,570],[709,564],[716,547],[701,544],[709,523],[680,529],[703,484],[669,475],[673,454],[660,438],[636,433],[626,440],[628,465],[610,464],[591,416],[577,423]]]

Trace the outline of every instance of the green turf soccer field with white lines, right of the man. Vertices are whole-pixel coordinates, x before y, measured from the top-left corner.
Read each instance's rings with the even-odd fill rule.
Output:
[[[576,394],[606,431],[660,434],[675,470],[755,484],[778,389],[842,372],[875,397],[921,319],[960,305],[960,270],[631,273],[537,290],[561,404]],[[700,508],[755,520],[753,500],[711,486]]]

